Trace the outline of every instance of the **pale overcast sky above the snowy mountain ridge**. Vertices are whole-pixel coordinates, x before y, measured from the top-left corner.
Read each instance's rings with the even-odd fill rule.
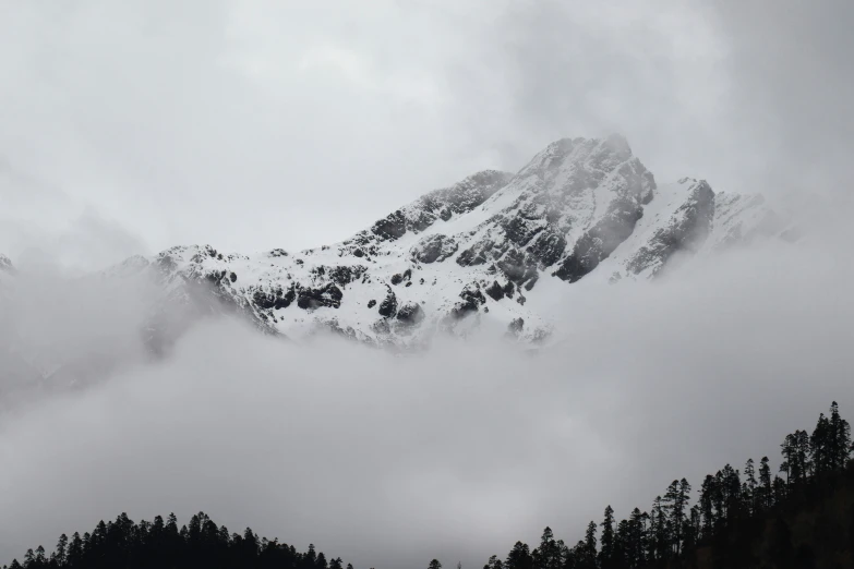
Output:
[[[851,3],[748,4],[5,1],[0,251],[315,246],[613,131],[659,180],[827,192]]]

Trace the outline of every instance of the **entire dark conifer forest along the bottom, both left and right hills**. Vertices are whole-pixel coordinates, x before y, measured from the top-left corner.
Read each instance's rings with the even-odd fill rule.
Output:
[[[531,549],[517,542],[483,569],[821,569],[854,567],[854,464],[851,426],[833,402],[811,433],[784,438],[778,472],[768,457],[726,464],[695,488],[674,480],[648,510],[617,521],[611,506],[575,545],[543,531]],[[433,559],[428,569],[441,569]],[[230,533],[200,512],[179,529],[175,514],[134,523],[125,513],[83,535],[65,534],[48,553],[28,549],[4,569],[59,568],[289,568],[344,569],[340,558],[298,552],[258,538],[251,529]],[[346,566],[352,569],[351,565]]]

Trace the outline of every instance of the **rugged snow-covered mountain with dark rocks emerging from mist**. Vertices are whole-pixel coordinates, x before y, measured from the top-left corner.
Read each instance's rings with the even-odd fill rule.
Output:
[[[761,196],[689,178],[657,184],[621,136],[564,138],[516,174],[478,172],[340,243],[252,255],[177,246],[107,275],[156,278],[155,347],[188,315],[224,310],[288,338],[330,329],[416,347],[436,330],[491,327],[536,341],[560,325],[543,289],[654,278],[676,253],[710,255],[784,226]]]

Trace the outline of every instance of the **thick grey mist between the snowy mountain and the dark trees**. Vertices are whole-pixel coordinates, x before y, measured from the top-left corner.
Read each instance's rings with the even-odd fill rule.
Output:
[[[575,543],[674,477],[778,464],[785,434],[854,405],[851,267],[816,238],[710,258],[652,283],[560,282],[562,324],[534,354],[437,337],[400,356],[203,319],[165,359],[2,417],[0,556],[122,511],[203,510],[357,568],[471,567],[545,525]],[[104,323],[55,314],[74,289],[55,290],[29,318],[50,312],[88,353]]]

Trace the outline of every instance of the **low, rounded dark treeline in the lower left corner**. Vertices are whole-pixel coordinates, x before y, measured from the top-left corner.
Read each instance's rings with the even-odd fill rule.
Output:
[[[61,535],[56,549],[29,549],[24,561],[3,569],[345,569],[340,558],[326,559],[314,545],[299,553],[292,545],[258,538],[250,528],[229,533],[204,512],[178,528],[175,513],[164,520],[134,523],[127,513],[98,522],[92,533]],[[352,569],[351,565],[346,566]]]

